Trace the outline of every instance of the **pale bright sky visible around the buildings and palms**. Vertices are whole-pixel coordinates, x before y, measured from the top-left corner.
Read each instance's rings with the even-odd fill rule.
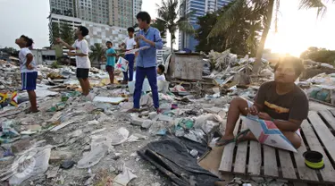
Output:
[[[161,0],[143,0],[142,10],[157,17],[156,5]],[[335,50],[335,4],[327,4],[322,19],[315,10],[298,10],[298,0],[281,0],[279,31],[270,30],[265,47],[272,52],[299,55],[307,47],[325,47]],[[29,7],[29,8],[28,8]],[[0,0],[0,47],[18,48],[14,40],[22,34],[33,38],[34,47],[49,46],[48,0]],[[178,35],[177,35],[178,36]],[[169,35],[167,38],[170,47]],[[178,39],[173,47],[177,48]]]

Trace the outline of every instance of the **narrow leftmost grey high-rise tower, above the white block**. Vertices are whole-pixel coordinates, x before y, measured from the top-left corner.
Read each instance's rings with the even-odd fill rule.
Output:
[[[50,0],[50,13],[77,17],[76,0]]]

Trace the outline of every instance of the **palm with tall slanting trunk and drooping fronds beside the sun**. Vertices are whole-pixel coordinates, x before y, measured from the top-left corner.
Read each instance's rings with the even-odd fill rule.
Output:
[[[322,2],[326,0],[299,0],[299,9],[311,9],[316,8],[317,9],[317,16],[320,17],[326,12],[326,6]],[[254,7],[254,9],[261,10],[260,13],[263,13],[263,25],[264,30],[262,33],[262,38],[259,43],[259,46],[257,48],[256,52],[256,58],[255,58],[255,64],[253,68],[254,73],[258,73],[262,63],[262,55],[264,51],[264,45],[267,38],[267,35],[269,33],[271,23],[272,23],[272,13],[273,9],[275,7],[275,29],[277,30],[277,21],[278,21],[278,13],[279,13],[279,7],[280,7],[281,0],[235,0],[234,4],[230,6],[230,10],[223,13],[220,20],[215,24],[214,29],[211,31],[211,33],[208,35],[208,38],[213,38],[214,36],[217,36],[222,31],[228,30],[230,28],[230,25],[233,24],[235,17],[239,15],[239,10],[241,7],[241,4],[247,4],[248,6]],[[335,0],[332,0],[332,2],[335,3]],[[262,11],[264,10],[264,11]]]

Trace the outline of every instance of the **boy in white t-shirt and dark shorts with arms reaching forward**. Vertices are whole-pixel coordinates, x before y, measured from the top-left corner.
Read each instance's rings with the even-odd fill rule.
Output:
[[[77,78],[80,81],[82,95],[86,97],[87,100],[92,100],[93,97],[89,96],[90,85],[88,80],[88,72],[89,68],[91,68],[91,62],[88,58],[88,41],[85,39],[88,32],[88,28],[80,26],[75,33],[78,39],[72,46],[65,43],[61,38],[57,38],[57,41],[69,48],[69,50],[76,50],[75,53],[69,52],[68,55],[76,56]]]

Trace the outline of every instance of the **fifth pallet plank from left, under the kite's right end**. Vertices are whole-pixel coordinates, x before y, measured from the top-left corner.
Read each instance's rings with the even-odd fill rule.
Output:
[[[281,172],[282,177],[286,179],[297,179],[296,170],[289,155],[289,151],[278,149],[280,161],[281,161]]]

